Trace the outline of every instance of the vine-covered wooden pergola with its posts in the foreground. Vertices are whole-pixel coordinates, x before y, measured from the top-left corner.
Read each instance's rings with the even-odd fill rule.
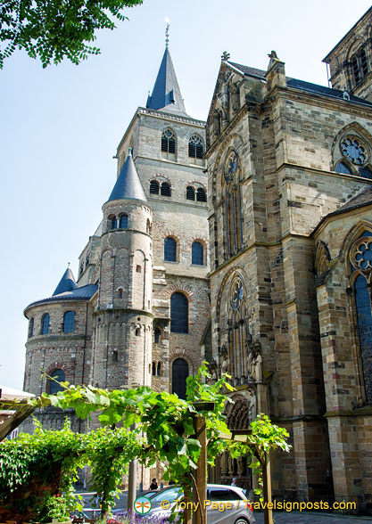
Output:
[[[87,451],[92,448],[89,438],[95,439],[97,444],[100,438],[104,440],[109,435],[111,448],[116,450],[115,453],[118,455],[125,453],[127,463],[135,456],[146,467],[161,461],[166,465],[163,479],[166,481],[172,479],[182,485],[186,498],[193,493],[194,499],[198,497],[199,502],[202,503],[206,496],[207,463],[214,465],[216,456],[225,450],[228,450],[233,457],[251,454],[251,467],[260,476],[264,500],[270,502],[269,452],[277,448],[288,451],[290,447],[286,443],[288,434],[285,429],[272,424],[263,414],[251,423],[249,429],[233,433],[228,430],[223,412],[228,402],[226,392],[234,390],[228,383],[228,378],[223,376],[219,381],[210,383],[211,375],[203,364],[194,377],[187,379],[187,400],[167,391],[156,392],[145,386],[136,389],[107,390],[62,382],[64,389],[55,395],[43,394],[41,397],[23,402],[8,402],[6,406],[3,403],[2,407],[15,409],[21,417],[27,413],[26,408],[32,411],[49,405],[62,409],[73,408],[76,415],[81,418],[96,413],[99,422],[109,430],[105,431],[104,436],[98,434],[96,437],[92,436],[95,432],[92,432],[90,437],[89,434],[81,435],[82,441],[86,439],[84,446],[87,448],[81,452],[81,455],[86,456],[88,463],[92,464],[92,454],[89,455]],[[129,430],[134,427],[136,428],[134,432]],[[127,435],[136,435],[132,445],[123,446],[122,440],[119,445],[119,439],[123,438],[123,431],[120,428]],[[1,430],[0,426],[0,437]],[[42,431],[41,428],[39,431]],[[145,435],[142,440],[139,437],[140,432]],[[116,434],[118,446],[115,445]],[[0,454],[2,453],[3,449],[0,446]],[[99,466],[93,465],[95,489],[103,494],[100,501],[103,516],[110,511],[115,489],[120,485],[123,461],[124,459],[120,460],[117,477],[112,475],[112,454],[107,456],[103,454]],[[109,492],[106,476],[111,476]],[[199,504],[199,508],[203,507],[204,504]],[[193,516],[186,512],[186,523],[190,524],[191,519],[193,524],[206,524],[205,510],[198,510]],[[265,512],[265,524],[271,522],[272,517],[268,510]]]

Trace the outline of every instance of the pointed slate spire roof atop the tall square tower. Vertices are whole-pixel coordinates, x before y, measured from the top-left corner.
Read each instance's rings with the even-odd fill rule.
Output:
[[[168,47],[162,57],[161,67],[153,86],[153,94],[147,98],[146,108],[161,109],[186,116],[184,101]]]

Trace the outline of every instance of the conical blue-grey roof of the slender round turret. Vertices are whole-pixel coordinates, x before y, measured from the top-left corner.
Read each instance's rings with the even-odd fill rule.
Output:
[[[136,172],[131,149],[128,151],[127,160],[121,168],[120,175],[116,180],[116,184],[113,186],[108,201],[120,201],[121,199],[147,201],[144,188]]]

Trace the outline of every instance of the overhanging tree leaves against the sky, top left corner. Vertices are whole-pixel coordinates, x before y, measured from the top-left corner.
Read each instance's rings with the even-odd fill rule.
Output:
[[[79,64],[100,50],[88,43],[96,29],[126,20],[124,7],[142,0],[4,0],[0,3],[0,69],[15,49],[39,58],[43,68],[68,58]]]

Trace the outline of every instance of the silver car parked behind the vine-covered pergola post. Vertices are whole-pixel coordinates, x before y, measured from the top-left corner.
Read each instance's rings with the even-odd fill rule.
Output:
[[[182,489],[169,486],[151,498],[152,507],[144,517],[157,517],[166,520],[172,509],[182,510]],[[241,487],[208,484],[207,486],[207,524],[254,524],[256,521],[249,508],[247,497]],[[165,504],[164,501],[169,502]]]

